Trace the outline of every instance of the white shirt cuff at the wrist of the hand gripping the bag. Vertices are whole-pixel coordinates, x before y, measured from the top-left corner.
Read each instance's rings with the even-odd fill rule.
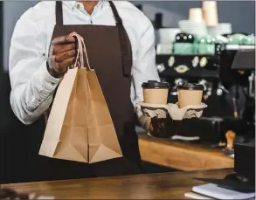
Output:
[[[38,71],[33,74],[32,81],[33,80],[34,84],[38,86],[39,91],[47,90],[49,92],[52,92],[56,86],[58,86],[60,81],[60,79],[52,77],[52,75],[48,72],[46,60]]]

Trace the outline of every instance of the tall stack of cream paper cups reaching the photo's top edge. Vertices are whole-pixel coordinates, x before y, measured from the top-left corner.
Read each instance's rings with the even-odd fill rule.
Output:
[[[206,25],[218,24],[218,8],[216,1],[203,1],[203,17]]]

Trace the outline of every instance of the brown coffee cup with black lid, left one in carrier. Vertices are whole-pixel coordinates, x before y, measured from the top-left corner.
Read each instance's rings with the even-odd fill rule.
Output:
[[[142,88],[145,103],[167,104],[169,83],[149,80],[142,83]]]

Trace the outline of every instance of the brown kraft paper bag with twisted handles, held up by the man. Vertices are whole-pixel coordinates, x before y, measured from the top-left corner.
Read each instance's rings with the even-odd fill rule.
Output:
[[[83,67],[86,46],[59,84],[39,155],[75,162],[101,162],[122,156],[107,102],[96,73]]]

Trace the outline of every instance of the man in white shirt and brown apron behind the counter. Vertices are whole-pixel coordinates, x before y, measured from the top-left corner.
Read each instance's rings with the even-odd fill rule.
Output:
[[[52,31],[53,30],[53,31]],[[86,164],[38,155],[59,78],[75,57],[77,32],[85,39],[124,157]],[[128,2],[40,2],[16,24],[10,44],[10,105],[30,125],[16,156],[24,156],[24,181],[121,176],[141,172],[135,133],[135,107],[142,82],[159,80],[155,66],[154,29]],[[50,51],[48,52],[48,50]]]

